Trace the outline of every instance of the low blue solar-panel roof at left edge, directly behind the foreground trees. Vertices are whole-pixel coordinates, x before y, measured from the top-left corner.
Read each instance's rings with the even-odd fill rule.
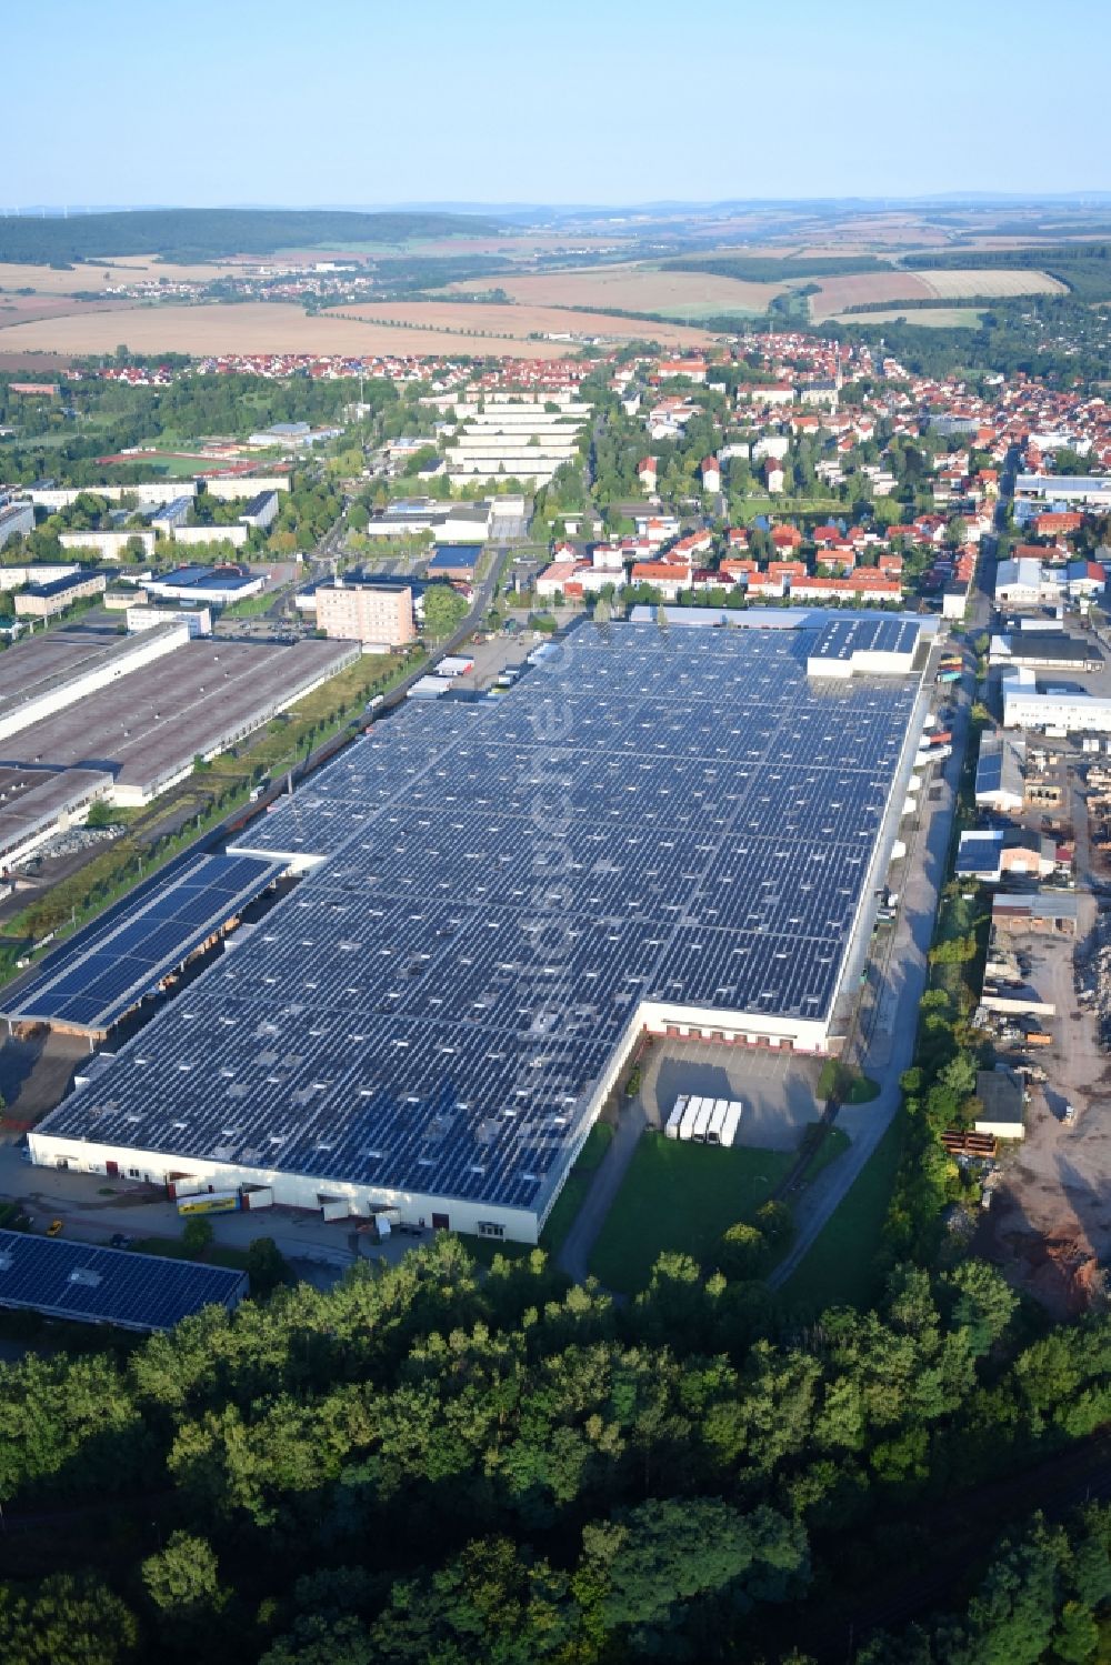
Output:
[[[48,1317],[168,1330],[208,1305],[235,1305],[247,1275],[130,1249],[0,1230],[0,1305]]]

